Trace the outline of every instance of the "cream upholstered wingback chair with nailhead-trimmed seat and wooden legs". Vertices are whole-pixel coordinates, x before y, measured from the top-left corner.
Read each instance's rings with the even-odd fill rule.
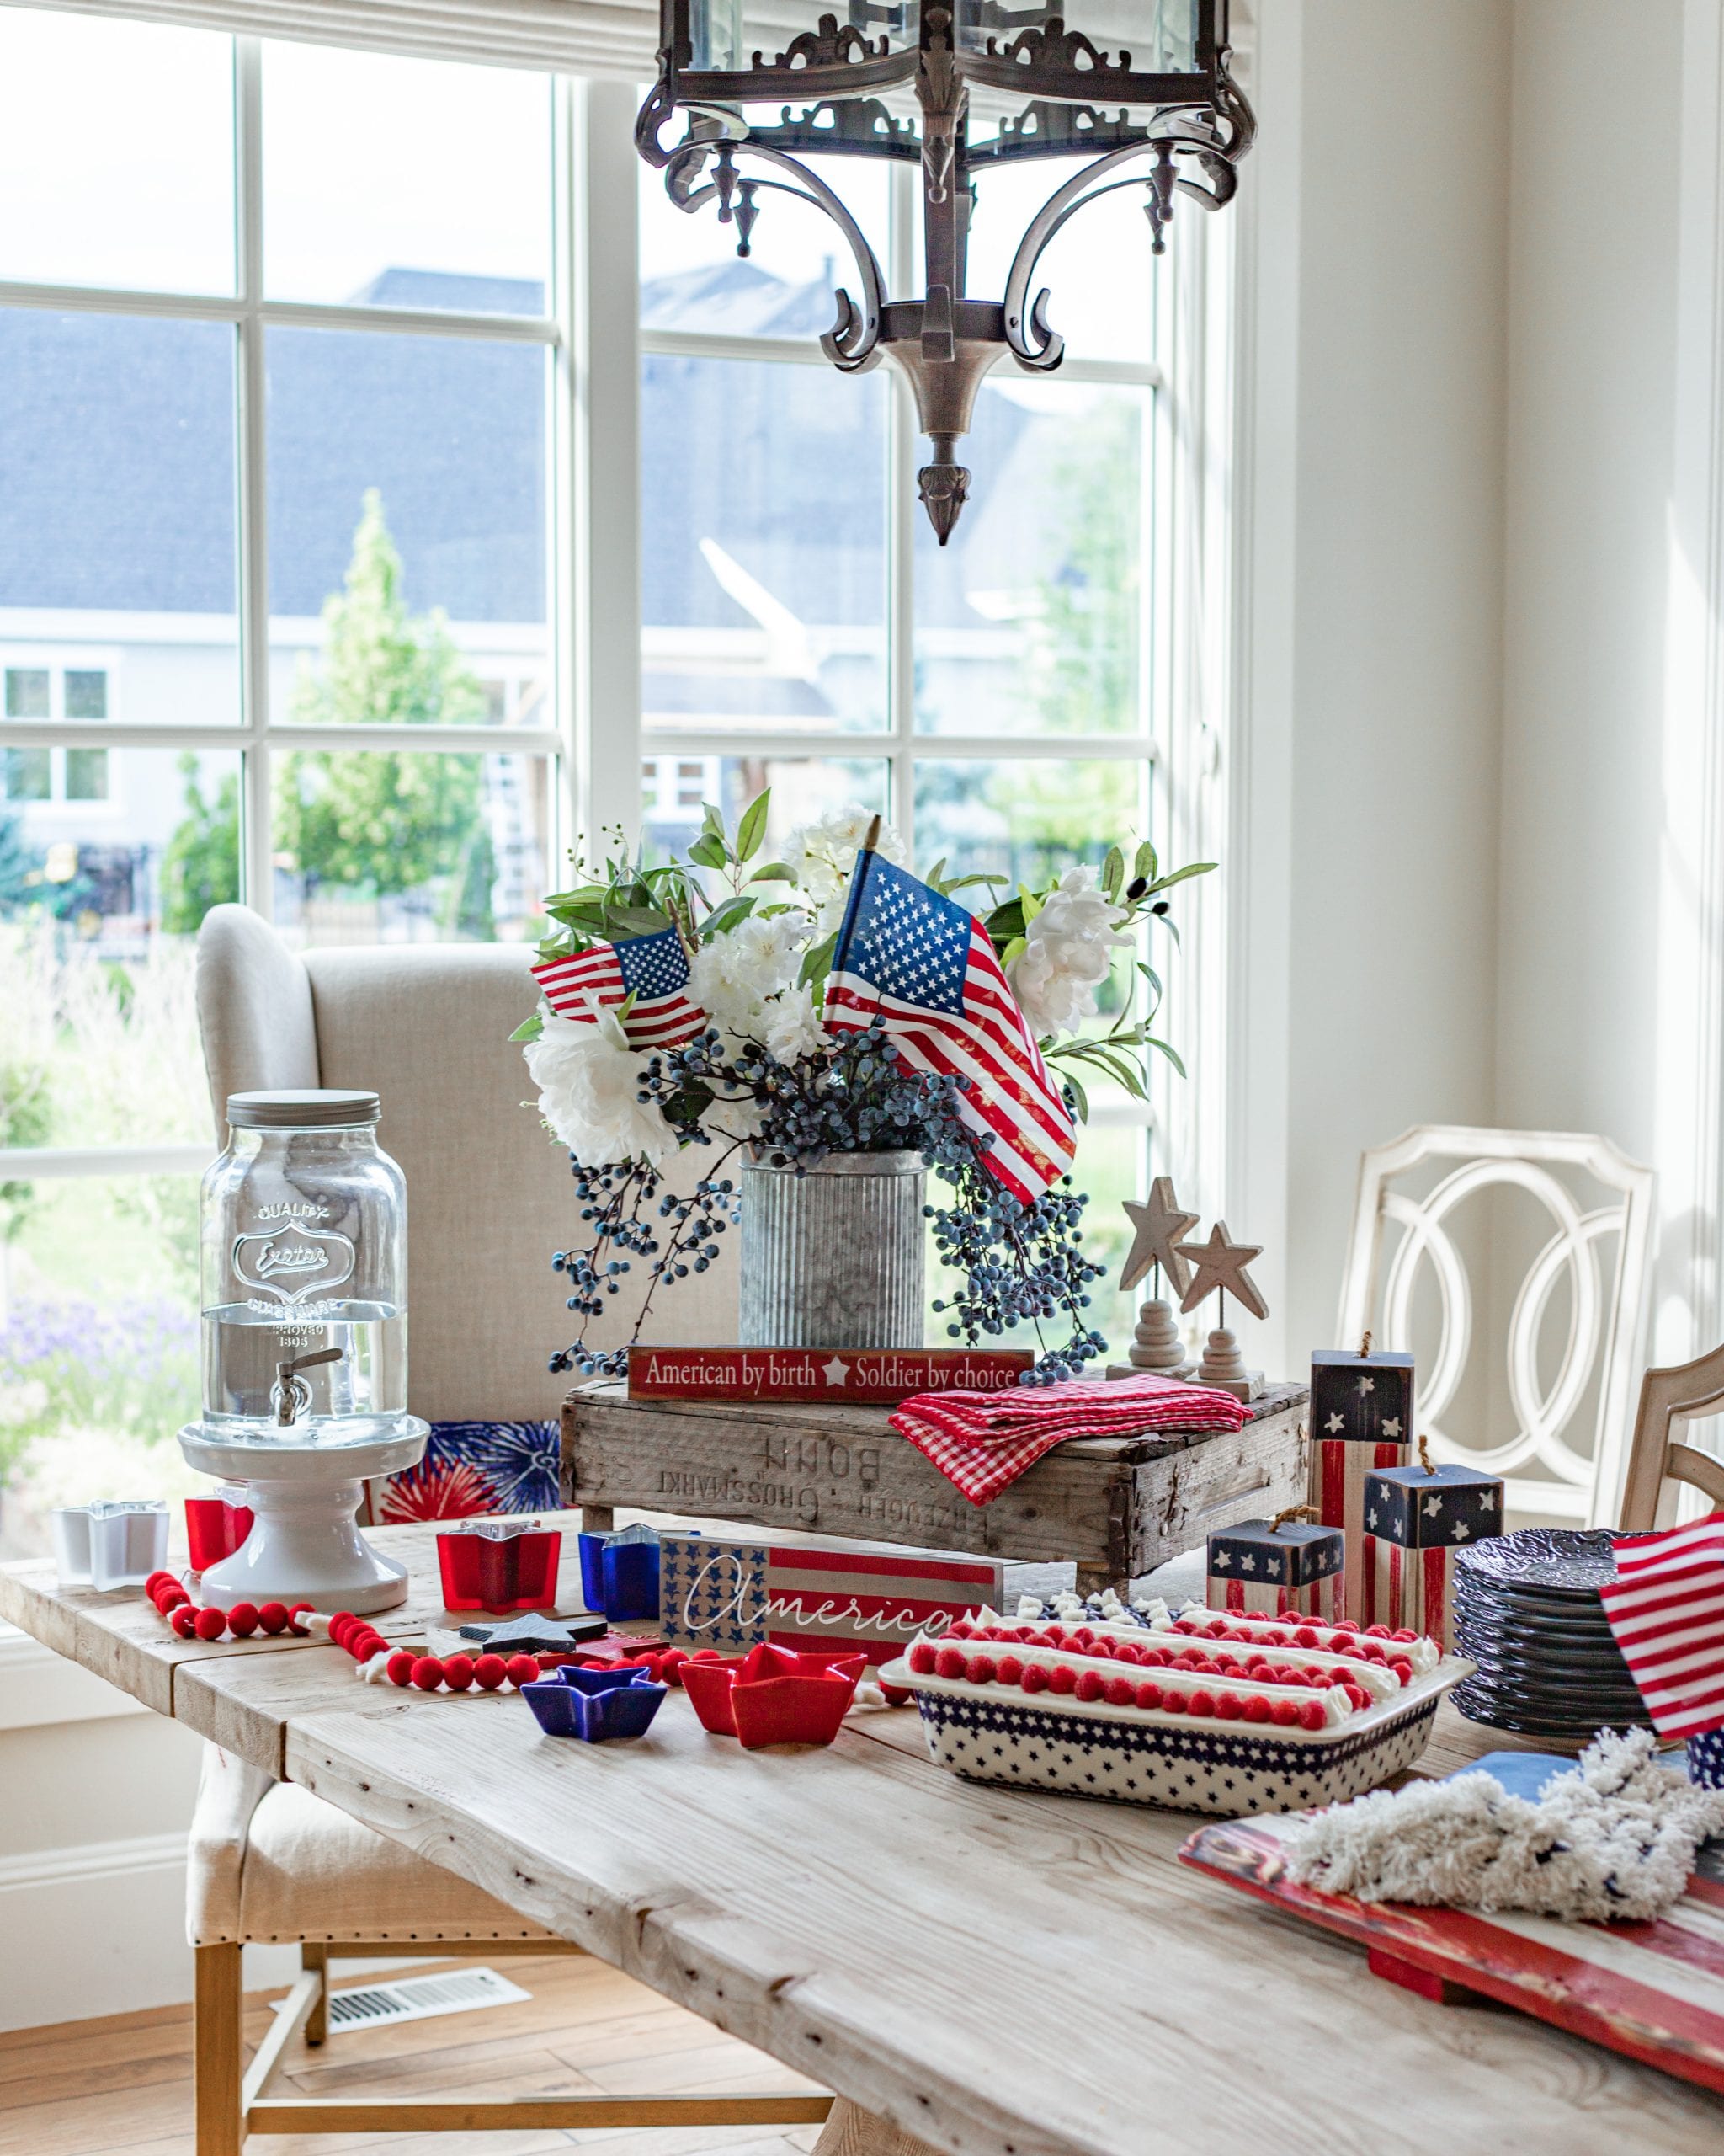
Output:
[[[556,1416],[569,1380],[547,1369],[569,1339],[552,1250],[578,1233],[569,1162],[526,1106],[530,1084],[509,1033],[532,1009],[530,953],[498,944],[412,944],[295,955],[241,906],[198,934],[198,1024],[218,1141],[228,1093],[256,1087],[366,1087],[379,1138],[407,1179],[407,1406],[433,1425],[543,1434],[556,1503]],[[735,1240],[735,1238],[731,1238]],[[664,1298],[659,1339],[735,1339],[735,1272],[715,1266]],[[386,1501],[388,1505],[388,1501]],[[304,2031],[328,2029],[336,1958],[573,1953],[502,1902],[308,1789],[276,1783],[213,1744],[187,1861],[196,1960],[196,2150],[237,2156],[246,2132],[476,2132],[550,2126],[791,2124],[821,2098],[528,2098],[437,2104],[272,2098],[272,2076]],[[241,2046],[241,1949],[297,1940],[302,1977],[250,2070]],[[558,2111],[560,2104],[560,2111]],[[274,2109],[272,2109],[274,2106]],[[332,2124],[317,2124],[330,2117]]]

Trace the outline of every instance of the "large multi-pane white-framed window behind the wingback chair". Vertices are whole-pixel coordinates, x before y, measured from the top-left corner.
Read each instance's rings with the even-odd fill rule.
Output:
[[[1054,177],[983,181],[976,289]],[[914,175],[836,179],[912,287]],[[983,388],[946,550],[834,254],[672,209],[616,91],[0,9],[0,1546],[183,1475],[213,903],[532,940],[582,830],[767,785],[1004,884],[1166,834],[1140,213],[1049,254],[1071,356]],[[1101,1257],[1146,1132],[1095,1097]]]

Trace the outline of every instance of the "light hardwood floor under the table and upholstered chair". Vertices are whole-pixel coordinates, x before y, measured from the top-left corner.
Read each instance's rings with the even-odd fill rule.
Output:
[[[416,1962],[401,1975],[474,1966]],[[580,2089],[655,2096],[681,2089],[808,2089],[812,2083],[709,2022],[586,1958],[496,1964],[530,1999],[297,2044],[272,2096],[556,2096]],[[336,1968],[336,1986],[358,1984]],[[269,1999],[246,2001],[246,2040],[269,2027]],[[761,2126],[509,2134],[269,2134],[248,2156],[541,2156],[610,2141],[616,2156],[804,2156],[819,2126],[774,2134]],[[4,2156],[192,2156],[192,2009],[155,2007],[112,2020],[60,2022],[0,2035],[0,2152]]]

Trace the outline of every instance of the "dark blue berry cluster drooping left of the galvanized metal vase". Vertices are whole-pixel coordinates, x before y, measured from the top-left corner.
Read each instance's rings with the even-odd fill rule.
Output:
[[[728,1160],[733,1151],[737,1151],[735,1145],[724,1158]],[[646,1298],[634,1326],[638,1339],[659,1283],[685,1281],[690,1272],[705,1272],[718,1257],[718,1238],[739,1218],[737,1186],[728,1175],[703,1175],[694,1190],[681,1199],[662,1190],[657,1171],[640,1160],[588,1169],[571,1153],[569,1166],[575,1177],[580,1218],[590,1229],[590,1242],[584,1250],[558,1250],[552,1257],[552,1272],[567,1274],[573,1289],[567,1300],[571,1311],[580,1317],[599,1317],[606,1296],[618,1296],[623,1276],[634,1270],[636,1259],[644,1259]],[[657,1205],[653,1205],[655,1199]],[[550,1367],[556,1376],[573,1369],[582,1378],[623,1378],[629,1367],[629,1350],[612,1348],[606,1352],[573,1341],[552,1356]]]

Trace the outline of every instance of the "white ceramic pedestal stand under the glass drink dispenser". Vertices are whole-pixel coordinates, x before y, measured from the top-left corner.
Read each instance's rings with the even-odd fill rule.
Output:
[[[403,1416],[388,1438],[360,1445],[248,1445],[203,1423],[179,1434],[179,1449],[203,1475],[246,1483],[252,1531],[203,1574],[203,1600],[310,1602],[319,1611],[394,1608],[407,1600],[407,1567],[373,1550],[358,1529],[364,1481],[399,1475],[425,1455],[429,1423]]]

